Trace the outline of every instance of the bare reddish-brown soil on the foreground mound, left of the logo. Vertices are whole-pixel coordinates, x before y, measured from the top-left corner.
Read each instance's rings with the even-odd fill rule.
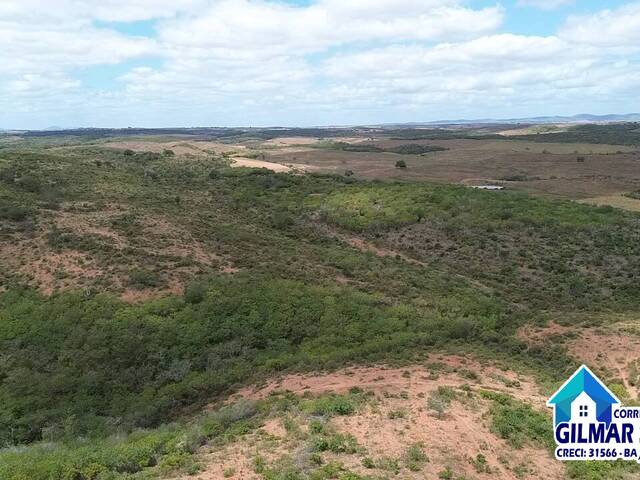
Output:
[[[455,472],[454,478],[563,478],[563,465],[549,452],[532,446],[516,449],[497,438],[489,428],[489,402],[477,394],[480,390],[504,392],[544,410],[545,398],[535,382],[471,358],[432,355],[424,364],[406,368],[358,367],[328,374],[289,375],[261,387],[245,388],[234,399],[265,398],[282,391],[297,395],[345,393],[352,387],[372,392],[375,402],[354,415],[334,417],[328,425],[353,435],[363,452],[325,453],[325,462],[339,462],[361,475],[384,474],[380,468],[365,468],[362,459],[402,459],[409,445],[422,444],[429,462],[417,472],[402,468],[399,478],[438,478],[447,467]],[[458,399],[442,415],[428,408],[428,399],[438,387],[458,392]],[[272,418],[258,433],[222,448],[208,447],[201,454],[204,470],[196,478],[261,478],[254,471],[257,454],[270,464],[283,456],[291,457],[294,463],[302,461],[308,454],[301,446],[308,420],[294,412],[286,417],[289,425],[292,421],[298,425],[293,430],[283,427],[285,418]],[[477,469],[474,462],[478,455],[486,458],[488,468]]]

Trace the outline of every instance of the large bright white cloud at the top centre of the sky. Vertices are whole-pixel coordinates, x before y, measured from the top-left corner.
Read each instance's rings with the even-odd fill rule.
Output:
[[[159,32],[180,47],[291,54],[353,42],[470,38],[495,30],[502,19],[501,7],[472,10],[451,0],[321,0],[308,7],[222,0],[161,24]]]

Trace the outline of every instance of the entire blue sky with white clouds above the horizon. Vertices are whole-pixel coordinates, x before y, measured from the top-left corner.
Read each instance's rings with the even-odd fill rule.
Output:
[[[640,1],[0,0],[0,129],[640,111]]]

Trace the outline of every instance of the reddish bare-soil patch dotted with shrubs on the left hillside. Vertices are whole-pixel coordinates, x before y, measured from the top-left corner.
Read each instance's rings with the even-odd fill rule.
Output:
[[[116,226],[128,215],[134,219],[134,229],[129,232]],[[55,247],[50,243],[54,232],[77,240]],[[125,301],[139,302],[182,294],[197,273],[238,271],[180,225],[116,204],[64,204],[60,210],[43,215],[33,231],[0,240],[0,247],[0,264],[45,295],[100,285]],[[117,262],[111,261],[114,256]],[[128,286],[132,270],[149,268],[161,272],[161,285]]]

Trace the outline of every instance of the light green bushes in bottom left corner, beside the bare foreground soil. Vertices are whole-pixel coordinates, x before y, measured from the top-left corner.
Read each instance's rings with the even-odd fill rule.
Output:
[[[180,468],[199,471],[193,454],[207,442],[221,444],[255,429],[267,402],[242,402],[194,421],[137,430],[90,440],[71,436],[30,448],[0,451],[3,480],[124,480],[148,479]]]

